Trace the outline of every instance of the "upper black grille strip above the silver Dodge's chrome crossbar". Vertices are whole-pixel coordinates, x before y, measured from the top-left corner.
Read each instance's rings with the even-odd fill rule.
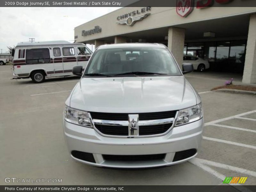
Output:
[[[128,121],[128,115],[134,113],[100,113],[100,112],[90,112],[92,119],[101,120],[114,120],[114,121]],[[138,113],[139,120],[155,120],[155,119],[167,119],[174,118],[176,111],[163,111],[163,112],[153,112],[153,113]]]

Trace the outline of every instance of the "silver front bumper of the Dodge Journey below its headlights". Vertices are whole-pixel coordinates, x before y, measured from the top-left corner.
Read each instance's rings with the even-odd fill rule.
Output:
[[[170,132],[159,137],[148,138],[110,138],[104,137],[92,128],[75,125],[63,120],[65,140],[69,153],[81,151],[92,153],[95,163],[75,160],[100,167],[113,168],[147,168],[167,166],[188,161],[197,155],[173,161],[176,152],[200,147],[202,140],[203,118],[182,126],[174,127]],[[109,161],[102,155],[151,155],[166,154],[164,159],[150,161]]]

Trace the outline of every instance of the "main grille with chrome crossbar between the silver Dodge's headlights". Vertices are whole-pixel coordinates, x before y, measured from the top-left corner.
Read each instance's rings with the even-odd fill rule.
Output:
[[[95,130],[107,137],[160,136],[172,128],[176,114],[177,111],[138,113],[139,120],[136,126],[138,132],[136,133],[129,131],[131,127],[128,116],[135,115],[134,113],[90,112]]]

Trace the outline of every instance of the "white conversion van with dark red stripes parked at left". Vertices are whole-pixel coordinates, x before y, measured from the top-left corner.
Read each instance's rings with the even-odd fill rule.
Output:
[[[70,76],[74,66],[85,68],[91,54],[83,43],[18,43],[13,59],[13,79],[31,78],[35,83],[42,83],[45,77]]]

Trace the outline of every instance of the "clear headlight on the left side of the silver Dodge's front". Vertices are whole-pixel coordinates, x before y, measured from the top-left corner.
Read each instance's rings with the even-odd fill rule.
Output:
[[[65,106],[64,119],[69,123],[93,128],[89,114],[85,111],[80,111]]]

